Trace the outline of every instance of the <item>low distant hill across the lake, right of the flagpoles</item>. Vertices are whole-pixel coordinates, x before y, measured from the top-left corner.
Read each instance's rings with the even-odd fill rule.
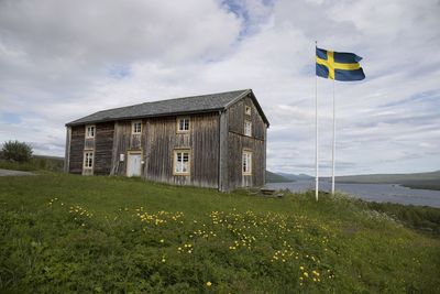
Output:
[[[440,189],[440,171],[415,174],[370,174],[337,176],[340,183],[400,184],[410,188]]]

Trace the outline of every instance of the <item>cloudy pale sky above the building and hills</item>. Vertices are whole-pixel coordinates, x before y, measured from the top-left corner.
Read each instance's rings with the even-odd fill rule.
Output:
[[[167,98],[252,88],[267,168],[331,174],[332,81],[318,46],[362,56],[334,83],[337,175],[440,170],[438,0],[0,0],[0,142],[64,156],[65,123]],[[317,81],[317,84],[316,84]]]

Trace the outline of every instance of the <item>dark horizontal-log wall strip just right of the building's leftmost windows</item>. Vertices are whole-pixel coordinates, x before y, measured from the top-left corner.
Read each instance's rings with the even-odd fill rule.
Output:
[[[113,149],[114,122],[96,124],[94,174],[109,175]]]

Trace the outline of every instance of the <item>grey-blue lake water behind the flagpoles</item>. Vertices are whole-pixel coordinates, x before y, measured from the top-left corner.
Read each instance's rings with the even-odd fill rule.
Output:
[[[292,183],[267,183],[267,188],[285,189],[292,192],[306,192],[315,189],[315,179],[297,181]],[[330,192],[331,183],[321,181],[319,190]],[[395,184],[339,184],[336,190],[362,198],[367,202],[398,203],[405,205],[426,205],[440,208],[440,190],[411,189]]]

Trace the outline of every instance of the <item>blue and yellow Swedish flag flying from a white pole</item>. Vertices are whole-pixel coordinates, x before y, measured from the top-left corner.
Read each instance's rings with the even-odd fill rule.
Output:
[[[365,78],[364,70],[359,62],[362,57],[354,53],[333,52],[316,48],[317,76],[336,80],[361,80]]]

